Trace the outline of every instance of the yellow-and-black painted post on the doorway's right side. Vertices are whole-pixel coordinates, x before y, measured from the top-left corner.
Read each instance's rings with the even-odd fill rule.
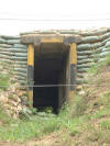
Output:
[[[70,93],[69,100],[73,99],[76,85],[76,66],[77,66],[77,50],[76,44],[70,44]]]

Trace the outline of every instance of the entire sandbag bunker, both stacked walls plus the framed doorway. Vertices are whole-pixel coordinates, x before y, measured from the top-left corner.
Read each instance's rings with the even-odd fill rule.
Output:
[[[15,81],[28,89],[29,105],[53,106],[54,112],[74,97],[76,85],[86,83],[88,69],[109,52],[109,27],[0,35],[0,63],[12,65]]]

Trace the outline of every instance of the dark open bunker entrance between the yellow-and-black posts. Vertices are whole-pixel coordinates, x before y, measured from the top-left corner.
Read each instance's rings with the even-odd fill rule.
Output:
[[[33,106],[58,113],[69,92],[69,46],[56,43],[34,48]]]

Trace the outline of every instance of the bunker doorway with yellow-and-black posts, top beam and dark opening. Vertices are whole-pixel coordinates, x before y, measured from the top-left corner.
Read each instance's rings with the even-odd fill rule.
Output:
[[[54,112],[74,94],[77,35],[28,34],[28,85],[30,106],[53,106]]]

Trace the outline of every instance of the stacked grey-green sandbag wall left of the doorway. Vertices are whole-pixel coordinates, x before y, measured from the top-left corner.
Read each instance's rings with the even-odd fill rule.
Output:
[[[0,36],[0,64],[2,63],[13,70],[15,81],[26,85],[28,46],[21,44],[20,36]]]

